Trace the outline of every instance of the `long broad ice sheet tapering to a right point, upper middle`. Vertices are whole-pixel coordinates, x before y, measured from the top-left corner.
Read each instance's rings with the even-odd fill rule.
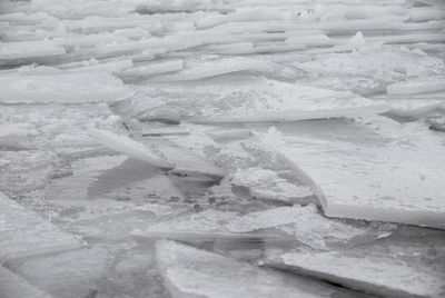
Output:
[[[162,96],[165,103],[148,109],[139,116],[141,120],[175,117],[201,123],[293,121],[353,117],[382,109],[372,100],[346,91],[249,77],[160,86],[149,93]]]

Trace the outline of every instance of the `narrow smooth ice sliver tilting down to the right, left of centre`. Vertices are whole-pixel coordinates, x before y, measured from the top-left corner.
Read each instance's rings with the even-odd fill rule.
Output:
[[[88,133],[98,140],[99,142],[106,145],[107,147],[118,150],[119,152],[126,153],[129,157],[139,159],[155,167],[162,169],[172,169],[175,163],[167,161],[165,158],[157,155],[151,149],[145,147],[142,143],[128,138],[127,136],[119,136],[111,131],[100,130],[96,128],[90,128]]]

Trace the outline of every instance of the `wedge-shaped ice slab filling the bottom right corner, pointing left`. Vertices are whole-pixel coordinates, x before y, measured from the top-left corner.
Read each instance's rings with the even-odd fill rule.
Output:
[[[266,264],[385,297],[443,297],[444,232],[404,228],[367,246],[333,251],[269,251]]]

